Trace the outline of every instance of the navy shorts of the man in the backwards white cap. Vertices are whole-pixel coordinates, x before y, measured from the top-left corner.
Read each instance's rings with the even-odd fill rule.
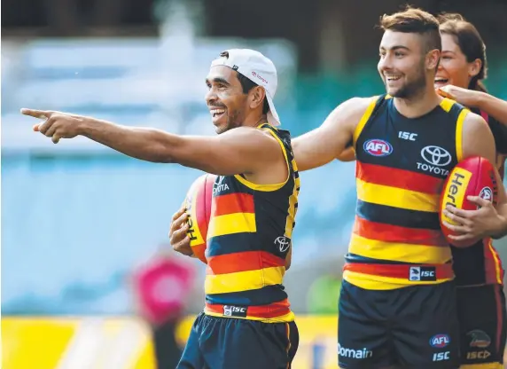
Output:
[[[200,313],[177,369],[286,369],[300,342],[291,323],[220,318]]]

